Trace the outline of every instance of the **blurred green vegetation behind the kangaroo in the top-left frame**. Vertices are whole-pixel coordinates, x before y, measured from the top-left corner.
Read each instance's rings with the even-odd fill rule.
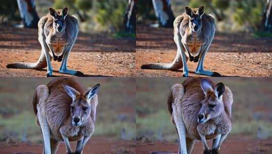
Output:
[[[117,33],[124,29],[127,0],[35,0],[39,17],[48,13],[49,7],[69,7],[70,15],[78,17],[83,32],[106,31]],[[0,24],[18,24],[20,12],[16,0],[0,0]]]

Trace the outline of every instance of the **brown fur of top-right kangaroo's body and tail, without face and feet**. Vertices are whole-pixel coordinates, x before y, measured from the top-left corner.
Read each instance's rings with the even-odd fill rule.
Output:
[[[193,12],[197,12],[198,9],[192,9]],[[201,21],[202,27],[199,32],[192,33],[189,27],[189,17],[186,13],[179,15],[175,18],[174,27],[174,42],[178,46],[181,45],[181,52],[185,53],[184,60],[190,58],[190,61],[198,62],[201,56],[205,56],[205,52],[209,48],[211,41],[213,41],[215,35],[215,19],[207,14],[203,14]],[[205,46],[207,47],[205,48]],[[186,52],[185,47],[188,47],[189,53]],[[177,47],[178,48],[178,47]],[[203,54],[202,54],[203,53]],[[178,51],[172,63],[149,63],[141,66],[142,69],[168,69],[177,70],[183,68],[182,54]]]

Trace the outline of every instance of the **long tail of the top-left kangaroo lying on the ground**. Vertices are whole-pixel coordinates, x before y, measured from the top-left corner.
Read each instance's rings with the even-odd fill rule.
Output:
[[[51,58],[50,58],[51,60]],[[39,60],[35,63],[15,62],[7,65],[7,68],[23,68],[23,69],[42,69],[47,66],[46,56],[42,52]]]

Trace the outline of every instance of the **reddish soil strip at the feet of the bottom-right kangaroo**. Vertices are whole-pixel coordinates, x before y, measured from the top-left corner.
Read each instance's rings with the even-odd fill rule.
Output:
[[[211,142],[208,142],[211,145]],[[149,143],[136,143],[137,154],[147,154],[155,151],[168,151],[177,152],[177,143],[168,142],[149,142]],[[193,149],[193,154],[203,153],[203,145],[200,141],[196,142]],[[220,153],[224,154],[268,154],[272,153],[272,139],[266,140],[252,140],[245,138],[232,137],[223,142]]]

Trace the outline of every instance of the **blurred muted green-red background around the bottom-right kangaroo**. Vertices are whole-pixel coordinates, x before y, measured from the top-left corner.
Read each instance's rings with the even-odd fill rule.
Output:
[[[185,78],[138,78],[136,139],[177,141],[170,122],[167,98],[171,86]],[[215,78],[233,93],[229,136],[249,139],[272,137],[272,80],[269,78]]]

